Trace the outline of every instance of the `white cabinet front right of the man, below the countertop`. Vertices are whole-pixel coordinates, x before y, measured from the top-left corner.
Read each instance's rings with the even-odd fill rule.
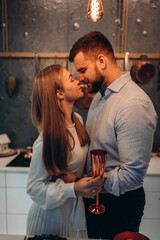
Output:
[[[144,179],[146,205],[140,233],[151,240],[160,239],[160,175],[147,175]]]

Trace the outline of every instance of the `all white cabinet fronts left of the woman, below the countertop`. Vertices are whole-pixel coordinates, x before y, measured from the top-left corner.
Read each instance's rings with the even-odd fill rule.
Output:
[[[0,171],[0,234],[26,234],[31,199],[26,193],[28,171]]]

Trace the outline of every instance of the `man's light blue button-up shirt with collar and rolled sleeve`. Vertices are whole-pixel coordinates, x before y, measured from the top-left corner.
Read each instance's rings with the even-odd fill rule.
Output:
[[[107,151],[105,189],[116,196],[143,185],[157,124],[157,114],[147,94],[123,74],[90,106],[86,130],[90,150]],[[87,172],[91,173],[88,154]]]

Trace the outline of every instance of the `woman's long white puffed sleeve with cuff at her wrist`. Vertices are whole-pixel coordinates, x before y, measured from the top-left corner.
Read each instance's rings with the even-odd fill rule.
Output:
[[[47,176],[42,160],[42,139],[33,145],[33,156],[27,181],[27,194],[45,210],[63,205],[68,198],[76,197],[74,183],[64,183],[61,179],[55,182]]]

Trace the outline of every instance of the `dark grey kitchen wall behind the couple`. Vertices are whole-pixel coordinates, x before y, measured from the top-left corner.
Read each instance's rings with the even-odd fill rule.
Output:
[[[2,1],[4,0],[0,1],[0,12],[2,12]],[[109,38],[115,52],[120,52],[123,1],[103,0],[104,16],[97,23],[87,19],[87,2],[87,0],[8,0],[9,51],[69,52],[72,44],[79,37],[89,31],[100,30]],[[128,13],[126,50],[131,53],[159,53],[160,1],[130,0]],[[1,16],[0,23],[2,23]],[[76,29],[77,24],[78,29]],[[2,44],[1,25],[1,52]],[[129,68],[135,61],[129,61]],[[38,65],[35,62],[33,58],[0,58],[0,134],[8,134],[13,148],[32,145],[37,137],[37,130],[30,119],[29,100],[36,71],[51,63],[66,66],[66,60],[62,59],[39,59]],[[160,92],[157,89],[159,60],[151,60],[151,62],[156,68],[153,80],[139,85],[150,96],[160,116]],[[123,69],[123,60],[118,60],[118,64]],[[73,64],[69,64],[69,71],[76,77]],[[12,97],[9,97],[6,91],[6,79],[10,74],[14,75],[18,82]],[[76,110],[85,120],[87,110],[77,108]],[[156,151],[158,146],[160,146],[160,122],[154,137],[153,151]]]

